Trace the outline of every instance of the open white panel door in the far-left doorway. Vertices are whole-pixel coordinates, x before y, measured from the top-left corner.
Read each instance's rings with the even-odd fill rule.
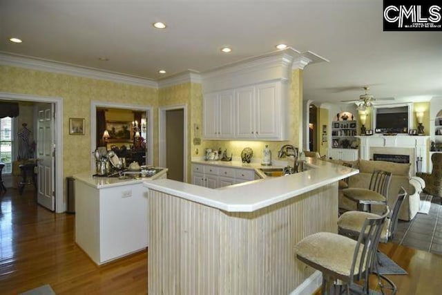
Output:
[[[54,106],[37,104],[37,202],[55,211]]]

